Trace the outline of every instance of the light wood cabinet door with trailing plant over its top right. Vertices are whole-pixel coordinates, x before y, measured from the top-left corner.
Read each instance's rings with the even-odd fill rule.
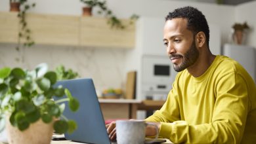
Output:
[[[81,46],[133,48],[135,26],[123,20],[125,29],[111,28],[105,18],[81,17]]]

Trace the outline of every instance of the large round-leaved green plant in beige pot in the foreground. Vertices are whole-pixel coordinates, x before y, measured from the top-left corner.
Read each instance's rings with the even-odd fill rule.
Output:
[[[9,143],[51,143],[53,129],[59,134],[75,130],[74,120],[62,115],[62,102],[68,101],[72,111],[77,111],[79,102],[68,89],[54,86],[57,75],[47,69],[46,63],[32,71],[0,69],[0,128],[7,126]],[[66,98],[53,100],[65,94]]]

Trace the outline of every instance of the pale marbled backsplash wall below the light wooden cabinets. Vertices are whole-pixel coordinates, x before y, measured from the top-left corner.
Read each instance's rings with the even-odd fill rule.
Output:
[[[78,71],[81,77],[91,77],[100,96],[104,88],[123,88],[125,50],[113,48],[77,48],[75,46],[33,46],[15,49],[16,45],[0,44],[0,67],[26,67],[48,63],[49,69],[60,64]]]

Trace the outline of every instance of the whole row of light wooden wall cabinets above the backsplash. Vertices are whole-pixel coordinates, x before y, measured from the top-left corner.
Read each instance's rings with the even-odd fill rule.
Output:
[[[126,29],[111,29],[105,18],[32,13],[27,16],[28,27],[36,44],[100,48],[135,46],[134,25]],[[122,21],[128,23],[128,20]],[[0,22],[0,43],[17,43],[17,13],[0,12]]]

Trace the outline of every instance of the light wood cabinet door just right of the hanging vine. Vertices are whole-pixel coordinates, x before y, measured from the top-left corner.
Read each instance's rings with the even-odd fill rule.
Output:
[[[79,44],[78,16],[28,14],[28,27],[36,44]]]

